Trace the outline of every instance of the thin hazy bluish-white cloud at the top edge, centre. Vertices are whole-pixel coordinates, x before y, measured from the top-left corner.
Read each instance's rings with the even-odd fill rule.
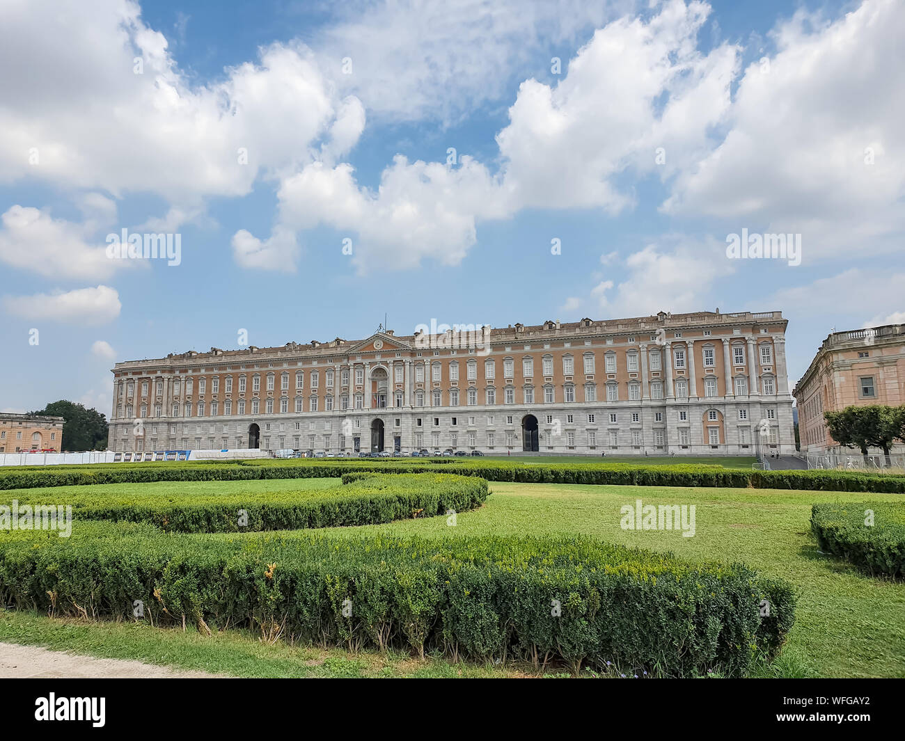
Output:
[[[387,119],[440,119],[499,100],[512,76],[549,69],[549,45],[568,46],[637,0],[419,0],[348,2],[312,42],[342,90]],[[351,73],[342,72],[344,59]],[[563,61],[565,66],[566,61]]]

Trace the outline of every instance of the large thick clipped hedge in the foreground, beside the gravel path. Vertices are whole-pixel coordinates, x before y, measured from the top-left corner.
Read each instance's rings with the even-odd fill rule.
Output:
[[[584,538],[161,537],[111,523],[68,540],[15,535],[0,537],[2,603],[132,620],[141,600],[155,623],[352,650],[744,676],[795,612],[788,584],[743,565]]]

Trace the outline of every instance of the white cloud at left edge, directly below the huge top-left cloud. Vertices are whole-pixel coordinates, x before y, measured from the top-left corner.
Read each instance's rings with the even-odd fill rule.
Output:
[[[90,198],[90,204],[103,206],[100,211],[109,218],[107,203]],[[105,199],[106,200],[106,199]],[[0,261],[14,268],[40,273],[49,278],[104,279],[129,261],[111,261],[106,244],[94,246],[87,239],[97,225],[98,217],[83,224],[54,219],[48,211],[21,205],[11,206],[2,217],[0,228]]]

